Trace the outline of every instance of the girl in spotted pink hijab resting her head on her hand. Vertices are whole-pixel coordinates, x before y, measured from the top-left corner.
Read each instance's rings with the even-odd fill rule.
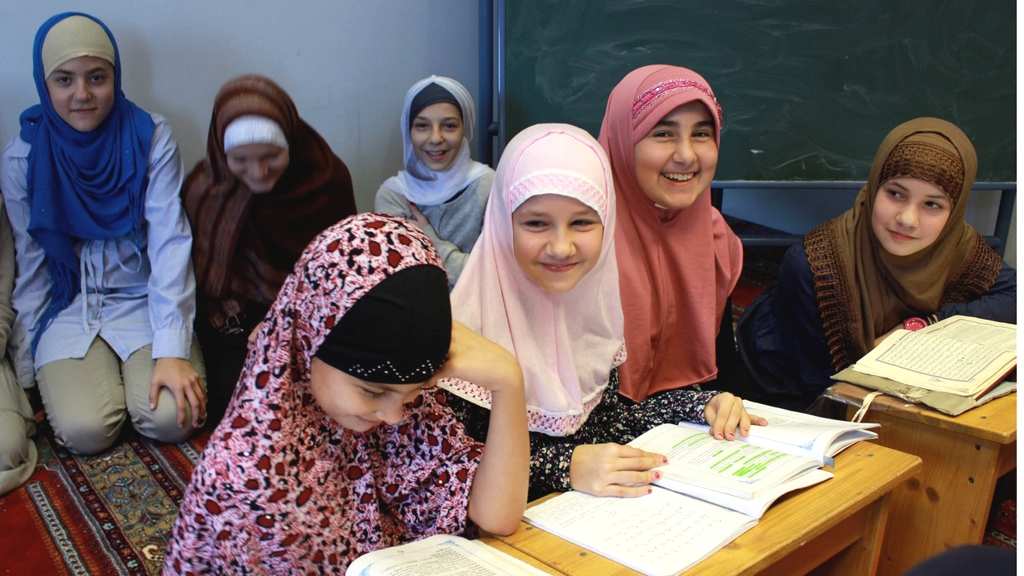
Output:
[[[486,447],[444,406],[441,377],[486,386]],[[510,534],[528,458],[522,372],[453,324],[429,239],[400,218],[351,216],[306,248],[257,332],[164,573],[341,574],[470,521]]]

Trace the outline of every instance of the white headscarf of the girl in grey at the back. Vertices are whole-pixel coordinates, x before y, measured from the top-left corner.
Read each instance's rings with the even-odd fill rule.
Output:
[[[416,156],[409,128],[409,114],[413,98],[420,93],[420,90],[430,84],[437,84],[444,88],[459,101],[465,130],[462,146],[459,147],[459,155],[456,156],[455,162],[446,170],[440,172],[431,170]],[[469,156],[469,140],[473,137],[475,124],[476,113],[473,107],[473,97],[459,82],[443,76],[431,76],[413,84],[413,87],[406,93],[406,104],[401,109],[401,143],[404,149],[406,169],[398,172],[398,175],[385,180],[384,188],[401,194],[418,206],[436,206],[450,200],[489,170],[486,165],[473,161]]]

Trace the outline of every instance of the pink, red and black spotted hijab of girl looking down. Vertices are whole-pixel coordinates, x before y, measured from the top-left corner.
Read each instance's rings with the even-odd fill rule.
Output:
[[[446,301],[430,240],[382,214],[346,218],[306,248],[193,474],[165,574],[342,574],[368,551],[465,530],[482,446],[466,438],[443,395],[425,389],[402,422],[355,433],[328,416],[309,387],[310,362],[325,340],[336,330],[359,330],[346,315],[377,288],[423,270],[436,272],[426,280],[436,286],[424,289]],[[422,286],[424,277],[417,278]],[[434,314],[398,305],[411,316]],[[446,354],[447,344],[442,348]],[[437,359],[393,364],[412,371]]]

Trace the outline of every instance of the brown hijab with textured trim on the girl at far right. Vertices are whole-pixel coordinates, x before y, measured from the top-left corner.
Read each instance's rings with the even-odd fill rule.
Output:
[[[977,169],[971,140],[953,124],[937,118],[904,122],[883,140],[853,208],[804,237],[836,370],[904,319],[975,299],[995,282],[999,255],[964,221]],[[935,243],[908,256],[890,254],[871,232],[876,193],[895,177],[932,182],[952,201]]]

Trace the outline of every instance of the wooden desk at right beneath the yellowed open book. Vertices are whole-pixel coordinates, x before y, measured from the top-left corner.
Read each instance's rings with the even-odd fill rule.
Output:
[[[830,394],[847,402],[847,418],[869,392],[839,383]],[[1017,394],[959,416],[880,396],[865,422],[879,422],[874,441],[921,456],[919,478],[893,492],[879,574],[898,575],[918,562],[959,544],[980,544],[995,481],[1017,467]]]

